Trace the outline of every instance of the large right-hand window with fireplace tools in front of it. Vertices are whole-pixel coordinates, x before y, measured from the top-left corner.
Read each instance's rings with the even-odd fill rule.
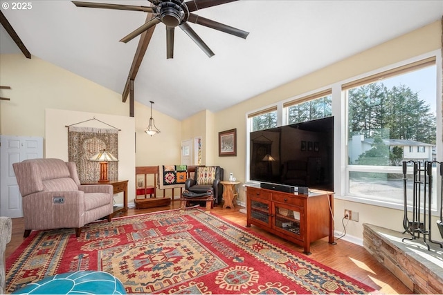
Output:
[[[403,204],[402,162],[435,159],[436,80],[434,57],[342,86],[349,196]]]

